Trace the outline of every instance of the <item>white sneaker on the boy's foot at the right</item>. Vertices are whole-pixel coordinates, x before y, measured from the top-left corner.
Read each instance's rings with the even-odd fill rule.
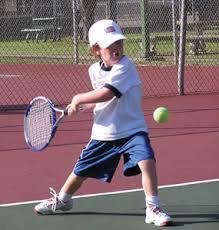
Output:
[[[171,217],[160,207],[149,206],[146,209],[145,223],[156,226],[167,226],[172,224]]]

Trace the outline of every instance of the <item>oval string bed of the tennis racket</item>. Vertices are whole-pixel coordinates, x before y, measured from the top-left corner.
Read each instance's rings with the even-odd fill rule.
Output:
[[[27,116],[27,134],[30,144],[43,148],[50,140],[54,124],[53,111],[48,102],[37,100]]]

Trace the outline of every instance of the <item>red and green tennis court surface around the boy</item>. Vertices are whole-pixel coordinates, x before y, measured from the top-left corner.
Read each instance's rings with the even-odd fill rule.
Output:
[[[169,108],[168,123],[153,122],[158,106]],[[219,95],[145,98],[143,110],[156,151],[162,205],[174,220],[170,228],[219,229]],[[68,118],[52,145],[33,153],[24,143],[23,111],[0,114],[1,230],[157,228],[144,224],[140,177],[122,176],[122,162],[111,184],[86,181],[72,211],[33,213],[37,201],[48,198],[50,186],[59,191],[89,138],[91,122],[90,113]]]

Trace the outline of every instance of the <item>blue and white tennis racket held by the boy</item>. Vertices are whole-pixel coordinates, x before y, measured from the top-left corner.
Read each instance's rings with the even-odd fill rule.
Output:
[[[61,115],[58,117],[58,113]],[[62,119],[68,114],[46,97],[35,97],[28,105],[24,115],[24,137],[32,151],[45,149],[57,131]]]

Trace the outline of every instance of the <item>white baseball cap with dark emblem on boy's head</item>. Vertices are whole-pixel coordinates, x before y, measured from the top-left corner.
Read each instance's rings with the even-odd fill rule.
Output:
[[[108,19],[95,22],[89,29],[88,38],[90,46],[98,44],[101,48],[107,48],[118,40],[123,40],[124,36],[120,26]]]

